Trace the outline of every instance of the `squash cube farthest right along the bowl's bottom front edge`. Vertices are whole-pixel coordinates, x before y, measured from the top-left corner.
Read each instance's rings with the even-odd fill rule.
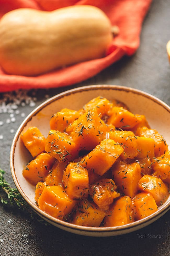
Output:
[[[150,193],[138,193],[132,199],[132,204],[135,221],[148,217],[158,210],[155,199]]]

